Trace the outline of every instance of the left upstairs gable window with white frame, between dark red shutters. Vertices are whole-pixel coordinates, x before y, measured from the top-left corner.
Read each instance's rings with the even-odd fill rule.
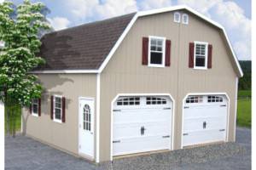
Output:
[[[149,37],[149,66],[165,66],[166,38]]]

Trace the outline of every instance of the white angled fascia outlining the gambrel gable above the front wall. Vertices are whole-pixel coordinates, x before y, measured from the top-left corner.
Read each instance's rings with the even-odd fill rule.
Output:
[[[177,6],[172,6],[172,7],[167,7],[167,8],[159,8],[159,9],[153,9],[153,10],[148,10],[148,11],[141,11],[141,12],[137,12],[137,14],[135,14],[133,16],[133,19],[131,20],[131,22],[128,24],[128,26],[125,28],[125,31],[123,32],[123,34],[119,37],[119,40],[114,44],[113,48],[111,49],[110,53],[108,54],[107,58],[104,60],[104,62],[102,63],[99,72],[102,72],[103,69],[106,67],[106,65],[108,64],[108,61],[111,59],[111,57],[113,56],[114,52],[116,51],[116,49],[119,47],[120,43],[124,40],[125,36],[127,35],[127,33],[131,30],[131,27],[133,26],[133,24],[136,22],[138,17],[141,16],[147,16],[150,14],[160,14],[160,13],[165,13],[165,12],[171,12],[174,10],[180,10],[180,9],[186,9],[189,12],[199,16],[201,19],[206,20],[207,22],[211,23],[213,26],[217,26],[218,28],[220,28],[223,32],[224,32],[224,37],[227,39],[227,42],[229,44],[230,50],[232,52],[232,55],[236,61],[236,66],[238,68],[239,71],[239,77],[243,76],[243,73],[241,71],[241,66],[238,62],[238,59],[236,57],[236,54],[231,46],[230,40],[226,34],[226,31],[224,29],[224,26],[221,26],[220,24],[218,24],[218,22],[215,22],[214,20],[211,20],[209,18],[207,18],[205,15],[197,12],[195,9],[190,8],[186,5],[177,5]]]

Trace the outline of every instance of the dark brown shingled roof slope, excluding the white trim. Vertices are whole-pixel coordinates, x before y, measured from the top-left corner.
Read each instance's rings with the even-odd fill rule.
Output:
[[[134,14],[44,35],[39,56],[46,64],[36,71],[98,69]]]

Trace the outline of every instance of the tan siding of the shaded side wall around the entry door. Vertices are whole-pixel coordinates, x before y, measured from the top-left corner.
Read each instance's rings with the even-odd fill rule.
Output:
[[[41,74],[38,78],[45,88],[41,100],[41,116],[28,115],[25,111],[23,131],[28,136],[78,155],[79,97],[91,97],[96,100],[96,75]],[[66,97],[65,123],[50,119],[50,95],[53,94]]]

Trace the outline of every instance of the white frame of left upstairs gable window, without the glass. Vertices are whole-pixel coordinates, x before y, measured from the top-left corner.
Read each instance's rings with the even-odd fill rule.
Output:
[[[160,39],[163,41],[162,46],[162,64],[151,64],[151,39]],[[165,67],[166,65],[166,37],[155,37],[155,36],[149,36],[148,37],[148,66],[151,67]]]

